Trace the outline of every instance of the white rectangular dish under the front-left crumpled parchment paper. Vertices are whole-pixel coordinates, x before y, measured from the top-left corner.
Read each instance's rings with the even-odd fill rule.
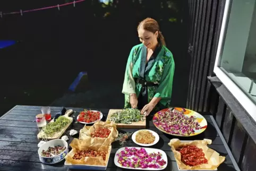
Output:
[[[111,150],[110,150],[111,151]],[[69,169],[82,169],[82,170],[106,170],[107,169],[107,165],[108,165],[108,161],[109,161],[109,157],[110,157],[110,151],[108,152],[108,159],[107,159],[107,163],[106,166],[97,166],[97,165],[73,165],[68,163],[67,161],[65,161],[64,165],[66,167],[68,167]],[[72,150],[71,150],[72,152]]]

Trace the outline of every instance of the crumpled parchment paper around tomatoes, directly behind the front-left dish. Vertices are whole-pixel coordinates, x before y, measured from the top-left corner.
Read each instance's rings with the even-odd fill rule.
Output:
[[[91,133],[93,133],[95,130],[99,129],[100,127],[105,127],[111,131],[108,137],[92,138]],[[81,129],[79,132],[79,139],[84,141],[90,141],[91,144],[100,144],[103,146],[109,146],[112,142],[115,141],[117,136],[118,136],[118,131],[116,129],[116,125],[110,122],[103,122],[103,121],[97,121],[95,124],[93,124],[93,126],[90,127],[89,130],[87,129],[86,126],[84,126],[83,129]]]

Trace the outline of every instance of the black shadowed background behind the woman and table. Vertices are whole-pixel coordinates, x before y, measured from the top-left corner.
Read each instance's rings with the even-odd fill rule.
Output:
[[[3,13],[72,2],[1,1]],[[87,0],[37,12],[0,18],[0,40],[16,40],[0,49],[1,114],[15,105],[122,108],[127,57],[139,44],[136,26],[144,18],[159,22],[176,68],[173,106],[186,106],[191,59],[186,1]],[[90,89],[66,93],[81,71]]]

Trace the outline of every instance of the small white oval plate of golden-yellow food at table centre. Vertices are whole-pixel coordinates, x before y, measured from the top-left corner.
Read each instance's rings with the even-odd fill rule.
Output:
[[[139,130],[132,134],[132,141],[139,146],[153,146],[159,141],[159,135],[151,130]]]

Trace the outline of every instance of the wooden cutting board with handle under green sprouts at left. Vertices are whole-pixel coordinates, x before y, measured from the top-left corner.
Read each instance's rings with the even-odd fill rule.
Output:
[[[67,110],[67,112],[65,113],[65,115],[63,115],[63,116],[65,116],[66,118],[70,119],[70,124],[72,124],[72,122],[73,122],[73,117],[69,117],[69,115],[71,115],[72,113],[74,113],[74,112],[73,112],[72,109],[70,109],[70,110]],[[52,122],[54,122],[54,118],[53,118],[52,121],[50,121],[49,123],[52,123]],[[48,123],[48,124],[49,124],[49,123]],[[46,139],[47,139],[47,140],[53,140],[53,139],[59,139],[59,138],[61,138],[61,135],[66,131],[66,129],[70,126],[70,124],[67,124],[61,131],[56,132],[53,136],[48,136],[48,137],[46,137]],[[44,136],[44,131],[41,130],[41,131],[37,134],[37,138],[42,139],[43,136]]]

